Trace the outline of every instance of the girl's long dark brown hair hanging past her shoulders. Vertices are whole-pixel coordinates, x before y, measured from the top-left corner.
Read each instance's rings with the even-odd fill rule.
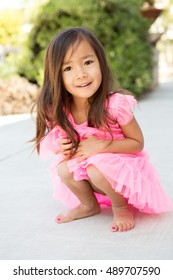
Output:
[[[80,138],[68,120],[71,95],[62,80],[62,64],[69,47],[87,40],[95,51],[100,63],[102,82],[97,92],[89,99],[88,126],[105,127],[109,130],[106,101],[113,88],[113,77],[108,66],[102,44],[87,28],[69,28],[57,34],[50,42],[45,57],[44,80],[37,99],[36,148],[39,153],[40,141],[56,125],[59,125],[73,143],[76,151]]]

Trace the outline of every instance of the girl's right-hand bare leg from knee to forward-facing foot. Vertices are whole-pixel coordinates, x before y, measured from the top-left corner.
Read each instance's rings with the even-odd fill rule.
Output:
[[[134,227],[134,215],[122,195],[116,193],[110,183],[93,165],[87,167],[87,173],[93,189],[96,187],[105,193],[112,202],[112,231],[127,231]]]

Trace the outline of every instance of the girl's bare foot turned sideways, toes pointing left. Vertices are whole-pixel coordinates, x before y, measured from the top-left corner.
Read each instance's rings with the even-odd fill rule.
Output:
[[[88,207],[83,204],[79,204],[76,208],[70,209],[60,213],[55,221],[57,223],[71,222],[77,219],[86,218],[89,216],[97,215],[100,213],[99,204],[95,204],[94,207]]]

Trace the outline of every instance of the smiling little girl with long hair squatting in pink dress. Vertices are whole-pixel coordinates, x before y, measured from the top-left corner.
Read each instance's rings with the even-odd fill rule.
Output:
[[[51,167],[54,194],[70,207],[58,223],[112,207],[112,231],[134,227],[133,207],[162,213],[173,204],[143,150],[131,95],[113,91],[103,47],[86,28],[70,28],[50,42],[37,101],[36,147]]]

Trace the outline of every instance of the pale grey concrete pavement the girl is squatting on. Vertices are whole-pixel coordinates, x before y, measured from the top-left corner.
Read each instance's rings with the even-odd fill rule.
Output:
[[[173,200],[173,82],[147,94],[139,107],[135,115],[145,149]],[[0,127],[0,259],[173,259],[173,213],[137,213],[135,229],[125,233],[110,231],[110,208],[94,217],[55,223],[65,208],[52,198],[50,162],[31,155],[27,141],[34,126],[26,119]]]

